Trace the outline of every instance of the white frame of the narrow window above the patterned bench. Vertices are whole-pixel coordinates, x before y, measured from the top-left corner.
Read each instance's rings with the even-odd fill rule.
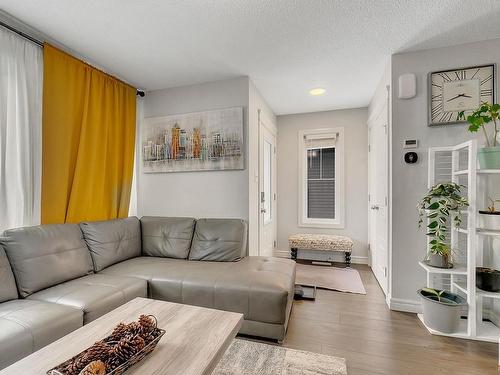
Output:
[[[331,147],[335,147],[335,218],[314,219],[307,217],[307,150],[304,142],[307,136],[320,135],[325,138],[336,138]],[[345,228],[345,194],[344,194],[344,128],[327,128],[300,130],[298,142],[299,159],[299,196],[298,225],[304,228]]]

